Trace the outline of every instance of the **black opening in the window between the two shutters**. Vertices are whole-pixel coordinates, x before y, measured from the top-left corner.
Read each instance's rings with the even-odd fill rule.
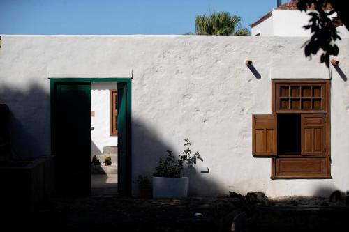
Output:
[[[278,114],[278,154],[301,153],[301,114]]]

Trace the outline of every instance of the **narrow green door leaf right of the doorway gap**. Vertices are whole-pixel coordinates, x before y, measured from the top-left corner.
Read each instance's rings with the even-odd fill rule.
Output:
[[[118,109],[117,109],[117,169],[118,169],[118,175],[117,175],[117,190],[119,194],[121,195],[127,195],[127,174],[126,171],[126,165],[128,158],[126,156],[127,153],[127,144],[126,144],[126,138],[127,138],[127,130],[126,130],[126,112],[127,112],[127,104],[126,104],[126,84],[123,82],[120,82],[117,84],[117,102],[118,102]]]

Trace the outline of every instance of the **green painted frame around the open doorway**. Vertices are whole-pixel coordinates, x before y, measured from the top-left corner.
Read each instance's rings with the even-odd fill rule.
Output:
[[[131,196],[131,164],[132,164],[132,130],[131,130],[131,119],[132,119],[132,109],[131,109],[131,78],[49,78],[50,79],[50,101],[51,101],[51,153],[52,153],[52,141],[54,139],[54,133],[52,132],[52,122],[54,122],[54,92],[56,90],[57,83],[92,83],[92,82],[124,82],[126,83],[126,148],[127,148],[127,159],[126,159],[126,196]]]

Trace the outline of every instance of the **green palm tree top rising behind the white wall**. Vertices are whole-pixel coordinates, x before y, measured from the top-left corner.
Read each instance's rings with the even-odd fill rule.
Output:
[[[198,15],[195,17],[196,35],[216,36],[248,36],[250,31],[241,28],[242,18],[230,15],[228,12],[211,13],[208,16]]]

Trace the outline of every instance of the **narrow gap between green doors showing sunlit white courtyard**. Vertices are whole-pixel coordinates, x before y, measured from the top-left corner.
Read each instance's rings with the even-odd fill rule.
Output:
[[[91,194],[117,194],[117,82],[91,83]]]

